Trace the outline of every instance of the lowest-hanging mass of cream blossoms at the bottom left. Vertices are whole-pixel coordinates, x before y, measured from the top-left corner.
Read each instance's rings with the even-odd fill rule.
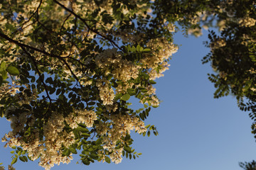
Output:
[[[9,112],[15,112],[15,109],[14,107],[10,108]],[[75,143],[73,132],[64,130],[65,125],[68,124],[70,128],[74,129],[78,128],[78,123],[84,123],[88,128],[91,128],[94,121],[97,120],[97,115],[94,111],[87,110],[75,111],[66,118],[63,118],[63,115],[59,113],[52,113],[48,122],[43,125],[43,140],[40,140],[39,130],[33,128],[30,130],[31,135],[28,142],[25,142],[18,135],[18,132],[25,132],[24,127],[26,128],[26,123],[28,121],[35,121],[31,113],[14,115],[9,120],[13,130],[2,138],[2,142],[7,142],[6,145],[9,145],[9,147],[22,147],[27,151],[28,157],[32,160],[41,157],[39,165],[45,169],[50,169],[54,164],[68,164],[70,159],[73,159],[71,155],[68,157],[62,156],[62,145],[69,147]]]

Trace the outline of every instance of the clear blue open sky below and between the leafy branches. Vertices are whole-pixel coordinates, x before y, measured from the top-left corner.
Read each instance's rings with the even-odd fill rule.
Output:
[[[176,34],[174,42],[182,45],[169,62],[170,69],[157,79],[156,94],[163,101],[151,110],[146,124],[156,125],[159,136],[132,134],[134,149],[142,152],[137,159],[123,159],[121,164],[95,163],[90,166],[70,164],[52,170],[242,170],[238,162],[256,159],[256,144],[251,134],[248,113],[236,106],[233,96],[213,98],[213,84],[207,73],[210,64],[201,64],[209,49],[204,47],[207,31],[200,38]],[[136,105],[135,105],[136,106]],[[9,122],[0,119],[0,137],[10,130]],[[11,163],[11,149],[0,143],[0,162]],[[16,170],[43,169],[38,161],[14,164]]]

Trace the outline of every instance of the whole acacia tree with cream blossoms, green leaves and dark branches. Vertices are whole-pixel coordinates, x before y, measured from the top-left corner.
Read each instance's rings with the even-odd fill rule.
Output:
[[[194,35],[218,26],[203,59],[217,72],[215,96],[254,95],[254,1],[0,2],[0,106],[11,121],[3,137],[14,149],[11,164],[39,159],[50,169],[78,152],[86,165],[138,157],[129,132],[158,133],[144,120],[159,106],[154,80],[178,49],[175,24]],[[130,96],[144,108],[130,108]]]

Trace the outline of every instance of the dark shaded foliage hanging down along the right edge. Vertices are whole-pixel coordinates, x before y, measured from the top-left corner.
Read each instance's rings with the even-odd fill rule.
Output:
[[[225,28],[217,35],[210,31],[210,53],[203,63],[210,62],[216,74],[209,74],[215,84],[214,97],[232,94],[242,111],[251,111],[250,118],[256,121],[256,8],[255,1],[236,1],[230,4]],[[256,134],[256,123],[252,133]],[[255,135],[256,137],[256,135]]]

